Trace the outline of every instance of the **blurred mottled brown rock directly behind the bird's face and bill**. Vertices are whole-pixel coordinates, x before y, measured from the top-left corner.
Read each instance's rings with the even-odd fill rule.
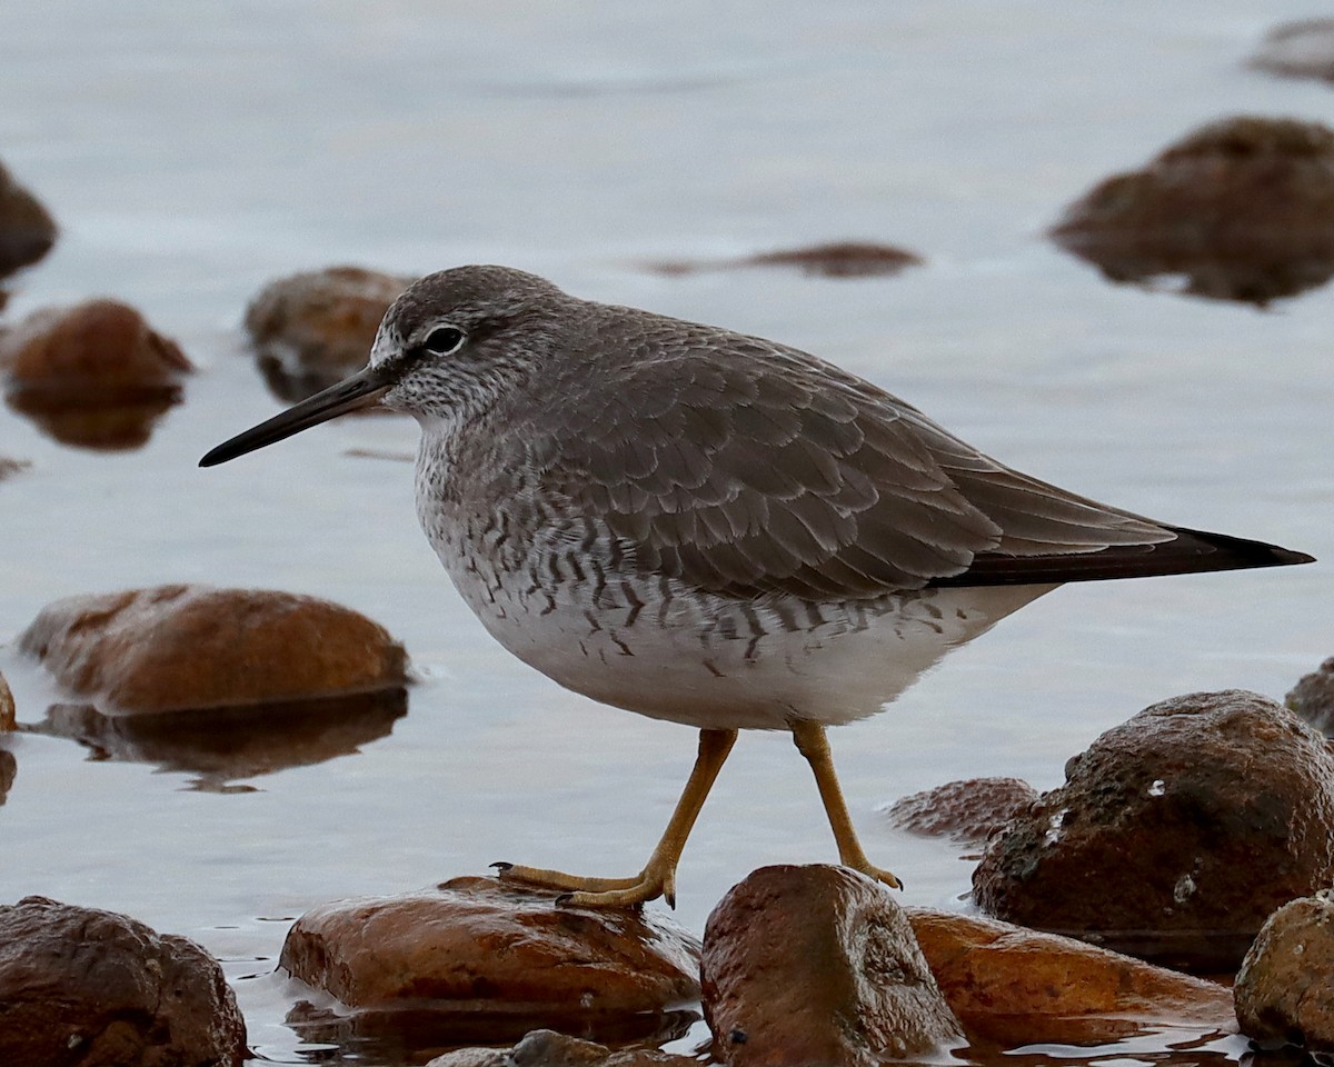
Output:
[[[245,329],[269,389],[296,403],[362,369],[380,319],[415,280],[331,267],[265,285]]]

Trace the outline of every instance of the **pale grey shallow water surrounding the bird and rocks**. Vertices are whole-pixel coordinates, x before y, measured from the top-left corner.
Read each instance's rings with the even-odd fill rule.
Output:
[[[584,296],[799,344],[1039,476],[1163,519],[1330,556],[1334,287],[1262,312],[1114,287],[1042,236],[1094,181],[1237,112],[1330,121],[1331,91],[1249,72],[1309,13],[1147,0],[770,0],[726,11],[595,3],[228,3],[0,8],[0,157],[63,227],[3,321],[108,293],[200,373],[140,451],[61,447],[0,411],[0,640],[59,596],[163,582],[332,598],[402,639],[420,683],[352,756],[195,788],[4,744],[0,900],[129,912],[225,962],[251,1040],[304,1056],[271,970],[315,903],[410,890],[496,859],[638,870],[692,735],[564,692],[494,646],[416,528],[398,419],[343,420],[200,471],[277,409],[239,320],[269,279],[356,261],[534,269]],[[894,279],[643,264],[795,244],[902,244]],[[959,850],[890,830],[883,802],[971,775],[1039,788],[1102,730],[1193,690],[1282,696],[1334,652],[1325,566],[1086,586],[959,651],[887,714],[832,738],[872,858],[904,899],[962,907]],[[20,719],[59,699],[0,650]],[[634,798],[632,802],[627,800]],[[747,736],[679,875],[703,927],[747,871],[832,859],[780,736]],[[1197,1062],[1173,1040],[1067,1056]],[[1189,1042],[1187,1042],[1189,1043]],[[309,1051],[309,1050],[307,1050]]]

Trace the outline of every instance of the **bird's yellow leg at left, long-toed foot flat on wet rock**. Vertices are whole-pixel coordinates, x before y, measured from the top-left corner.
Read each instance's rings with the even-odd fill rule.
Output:
[[[548,890],[564,890],[556,899],[563,904],[590,904],[592,907],[627,907],[642,904],[658,896],[676,907],[676,863],[680,860],[686,838],[704,806],[704,798],[712,788],[718,772],[736,743],[735,730],[700,730],[699,755],[690,772],[690,780],[682,791],[671,822],[662,840],[644,864],[644,870],[634,878],[579,878],[560,871],[547,871],[540,867],[518,867],[510,863],[496,863],[503,882],[518,882],[524,886],[540,886]]]

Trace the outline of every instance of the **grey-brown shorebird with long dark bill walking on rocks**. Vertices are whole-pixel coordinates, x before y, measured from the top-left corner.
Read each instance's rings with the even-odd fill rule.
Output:
[[[418,517],[487,631],[560,686],[699,731],[638,874],[495,864],[558,903],[675,906],[742,730],[790,731],[840,863],[900,887],[856,836],[828,727],[1063,583],[1313,562],[1057,488],[798,348],[496,265],[415,281],[364,369],[200,465],[376,403],[420,424]]]

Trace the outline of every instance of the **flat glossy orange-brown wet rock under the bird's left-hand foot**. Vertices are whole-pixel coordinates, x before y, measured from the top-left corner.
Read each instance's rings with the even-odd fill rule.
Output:
[[[289,1024],[408,1048],[514,1042],[530,1030],[598,1040],[680,1036],[698,1018],[698,944],[654,911],[555,907],[555,895],[456,878],[436,890],[307,912],[280,966],[336,998]]]

